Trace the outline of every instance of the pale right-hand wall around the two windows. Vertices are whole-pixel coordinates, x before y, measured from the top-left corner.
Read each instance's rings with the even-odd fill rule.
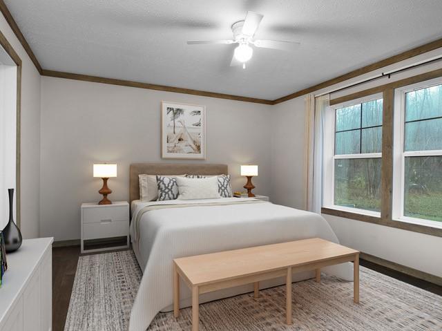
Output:
[[[434,50],[419,57],[407,59],[398,64],[389,66],[387,69],[401,68],[415,61],[440,55],[442,49]],[[414,68],[392,79],[383,78],[352,88],[349,91],[335,93],[339,97],[347,93],[362,91],[393,80],[403,79],[412,75],[419,75],[430,70],[442,68],[441,62],[436,62],[425,67]],[[387,71],[381,68],[376,71]],[[323,93],[332,88],[344,86],[349,82],[357,82],[364,77],[373,77],[375,73],[367,73],[363,77],[355,77],[351,81],[330,86],[314,94]],[[298,97],[274,106],[273,114],[273,140],[272,140],[272,196],[275,202],[295,208],[303,208],[304,195],[304,155],[305,155],[305,96]],[[295,141],[294,141],[295,140]],[[361,250],[385,260],[406,265],[436,276],[442,276],[442,238],[405,231],[383,225],[364,223],[358,220],[339,218],[323,215],[332,226],[340,243],[354,249]]]

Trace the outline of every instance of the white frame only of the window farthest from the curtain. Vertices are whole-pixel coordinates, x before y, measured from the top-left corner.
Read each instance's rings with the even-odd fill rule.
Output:
[[[393,191],[392,220],[442,229],[442,222],[405,216],[405,158],[416,156],[442,156],[442,149],[428,151],[404,151],[405,147],[405,94],[442,84],[442,77],[401,86],[394,90],[393,133]]]

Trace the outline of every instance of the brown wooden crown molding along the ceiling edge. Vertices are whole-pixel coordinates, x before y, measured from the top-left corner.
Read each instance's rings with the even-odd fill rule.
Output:
[[[32,52],[32,49],[30,48],[28,42],[26,41],[25,37],[21,33],[19,26],[17,26],[17,23],[15,22],[10,11],[8,10],[8,7],[6,7],[6,3],[4,3],[3,0],[0,0],[0,11],[3,13],[3,16],[5,17],[6,21],[8,21],[10,28],[12,29],[12,31],[14,31],[15,35],[19,39],[23,48],[26,50],[26,53],[28,53],[30,59],[35,64],[35,67],[39,71],[40,75],[48,76],[48,77],[76,79],[76,80],[82,80],[82,81],[86,81],[86,82],[96,82],[96,83],[113,84],[113,85],[119,85],[119,86],[146,88],[148,90],[184,93],[184,94],[190,94],[190,95],[201,95],[204,97],[215,97],[215,98],[219,98],[219,99],[236,100],[236,101],[242,101],[242,102],[253,102],[253,103],[258,103],[258,104],[269,104],[269,105],[280,104],[281,102],[285,102],[285,101],[294,99],[296,97],[300,97],[302,95],[306,95],[308,93],[318,91],[322,88],[326,88],[326,87],[332,86],[334,84],[345,82],[348,79],[358,77],[358,76],[363,75],[365,73],[369,73],[370,71],[373,71],[373,70],[376,70],[379,68],[383,68],[385,66],[390,66],[390,64],[395,64],[396,62],[401,62],[405,59],[409,59],[410,57],[415,57],[416,55],[421,55],[423,53],[427,53],[430,50],[434,50],[436,48],[442,48],[442,38],[436,39],[430,43],[423,44],[421,46],[412,48],[410,50],[405,50],[405,52],[393,55],[392,57],[387,57],[386,59],[382,59],[381,61],[374,62],[374,63],[369,64],[367,66],[363,66],[362,68],[358,68],[356,70],[352,70],[349,73],[345,73],[344,75],[340,75],[340,76],[335,77],[333,79],[326,80],[325,82],[321,82],[319,84],[310,86],[308,88],[304,88],[300,91],[296,91],[294,93],[286,95],[285,97],[280,97],[276,100],[265,100],[265,99],[255,98],[255,97],[242,97],[240,95],[229,95],[229,94],[224,94],[224,93],[214,93],[214,92],[209,92],[209,91],[193,90],[190,88],[179,88],[179,87],[173,87],[173,86],[148,84],[148,83],[133,82],[133,81],[122,80],[122,79],[113,79],[113,78],[97,77],[97,76],[90,76],[90,75],[80,75],[80,74],[76,74],[76,73],[63,73],[61,71],[43,69],[43,68],[41,68],[41,66],[37,60],[37,57],[35,57],[35,54]]]

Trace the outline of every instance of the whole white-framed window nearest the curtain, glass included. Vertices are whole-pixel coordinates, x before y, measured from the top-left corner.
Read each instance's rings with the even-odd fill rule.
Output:
[[[325,206],[376,216],[381,211],[382,113],[381,95],[329,109],[324,131]]]

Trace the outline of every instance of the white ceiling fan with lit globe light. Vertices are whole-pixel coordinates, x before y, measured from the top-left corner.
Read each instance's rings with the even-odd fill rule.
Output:
[[[296,50],[300,43],[295,41],[283,40],[267,40],[267,39],[253,39],[256,30],[264,15],[258,12],[247,12],[246,18],[242,21],[233,23],[231,26],[233,32],[233,39],[227,40],[189,40],[188,45],[198,44],[239,44],[235,48],[230,66],[240,66],[246,68],[246,62],[251,59],[253,55],[253,45],[258,48],[272,48],[277,50]]]

